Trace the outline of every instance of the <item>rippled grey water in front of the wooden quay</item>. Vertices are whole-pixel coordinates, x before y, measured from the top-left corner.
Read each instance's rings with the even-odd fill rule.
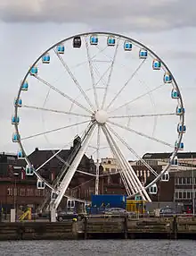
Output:
[[[192,240],[86,240],[1,242],[6,256],[195,256]]]

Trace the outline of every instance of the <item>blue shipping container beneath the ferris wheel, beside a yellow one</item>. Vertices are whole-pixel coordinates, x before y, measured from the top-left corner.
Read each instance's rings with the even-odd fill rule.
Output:
[[[126,209],[127,196],[118,194],[92,195],[93,208],[122,208]]]

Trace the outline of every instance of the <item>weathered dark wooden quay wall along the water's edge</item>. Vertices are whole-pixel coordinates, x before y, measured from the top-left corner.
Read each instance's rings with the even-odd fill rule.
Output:
[[[194,239],[196,218],[84,218],[79,221],[0,223],[0,240]]]

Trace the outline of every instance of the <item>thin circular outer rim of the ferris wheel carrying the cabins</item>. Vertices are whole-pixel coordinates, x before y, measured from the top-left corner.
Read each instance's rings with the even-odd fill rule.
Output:
[[[104,36],[114,36],[114,37],[119,37],[119,38],[123,38],[123,39],[129,40],[129,41],[133,42],[134,44],[136,44],[136,45],[138,45],[138,46],[140,46],[140,47],[145,48],[148,52],[151,53],[151,55],[153,55],[154,57],[156,57],[157,59],[159,59],[159,61],[161,62],[161,64],[166,68],[167,72],[171,74],[172,80],[173,80],[173,82],[174,82],[174,84],[175,84],[175,86],[176,86],[176,90],[177,90],[178,93],[179,93],[179,101],[180,101],[181,107],[184,107],[184,101],[183,101],[183,98],[182,98],[181,90],[179,90],[179,87],[178,87],[178,84],[177,84],[177,82],[176,82],[176,79],[175,79],[173,73],[172,73],[172,72],[170,71],[170,69],[167,67],[167,64],[165,64],[165,62],[159,57],[159,55],[157,55],[153,50],[151,50],[150,47],[146,47],[143,43],[141,43],[141,42],[135,40],[134,38],[129,38],[129,37],[127,37],[127,36],[124,36],[124,35],[121,35],[121,34],[118,34],[118,33],[107,32],[107,31],[105,31],[105,32],[91,31],[91,32],[85,32],[85,33],[79,33],[79,34],[76,34],[76,35],[72,35],[72,36],[70,36],[69,38],[64,38],[64,39],[58,41],[57,43],[53,44],[52,47],[49,47],[43,54],[39,55],[38,58],[37,58],[37,60],[30,66],[28,73],[26,73],[26,75],[24,76],[23,80],[21,81],[21,85],[22,85],[22,84],[26,81],[26,79],[28,78],[29,73],[30,73],[30,70],[32,69],[32,67],[35,66],[35,65],[37,64],[37,62],[38,62],[47,52],[53,50],[53,48],[55,48],[55,47],[58,46],[59,44],[64,43],[64,42],[66,42],[66,41],[69,41],[69,40],[71,40],[71,39],[73,39],[73,38],[75,38],[75,37],[85,37],[85,36],[90,36],[90,35],[94,35],[94,34],[96,34],[96,35],[104,35]],[[21,85],[20,85],[20,90],[18,91],[17,100],[19,100],[19,98],[20,98]],[[18,115],[18,106],[15,106],[15,116],[17,116],[17,115]],[[181,123],[184,125],[184,114],[180,116],[180,119],[181,119]],[[14,126],[15,126],[15,131],[16,131],[16,133],[17,133],[18,135],[20,135],[18,124],[14,124]],[[182,138],[183,138],[183,132],[181,132],[181,133],[178,134],[178,142],[179,142],[179,143],[182,141]],[[25,158],[27,164],[28,164],[29,166],[31,166],[32,163],[29,161],[29,157],[26,155],[26,152],[25,152],[25,150],[24,150],[24,148],[23,148],[23,145],[22,145],[21,141],[19,141],[18,143],[20,144],[20,149],[24,152],[24,158]],[[173,151],[173,153],[172,153],[172,155],[171,155],[171,158],[172,158],[172,159],[174,159],[174,158],[176,157],[176,154],[177,154],[178,149],[179,149],[179,146],[177,146],[177,148]],[[167,172],[169,166],[170,166],[170,164],[168,163],[167,166],[164,168],[164,170],[161,172],[161,174],[159,174],[158,177],[156,177],[151,183],[149,183],[147,186],[145,186],[145,189],[147,190],[149,187],[151,187],[151,185],[152,185],[153,183],[156,183],[156,182],[161,178],[161,176],[164,175],[164,174]],[[39,179],[43,180],[43,177],[42,177],[41,175],[39,175],[37,172],[35,172],[35,175],[37,175],[37,177],[38,177]],[[54,190],[54,191],[55,191],[55,189],[53,189],[53,186],[52,186],[50,183],[47,183],[47,182],[45,181],[45,184],[46,184],[51,190]]]

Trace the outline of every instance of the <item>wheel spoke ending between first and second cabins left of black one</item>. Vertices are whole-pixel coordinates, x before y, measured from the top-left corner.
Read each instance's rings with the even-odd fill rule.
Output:
[[[70,71],[68,64],[65,63],[65,61],[63,60],[61,55],[59,55],[58,52],[55,49],[53,49],[53,50],[54,50],[55,54],[58,56],[59,60],[61,61],[61,64],[65,68],[66,72],[69,73],[69,76],[72,79],[72,81],[74,81],[74,83],[78,87],[78,90],[81,92],[81,94],[84,96],[84,98],[86,98],[86,102],[88,103],[88,105],[92,108],[92,110],[94,110],[94,106],[91,103],[90,98],[87,97],[86,92],[82,89],[82,87],[78,83],[78,80],[76,79],[74,74]]]

